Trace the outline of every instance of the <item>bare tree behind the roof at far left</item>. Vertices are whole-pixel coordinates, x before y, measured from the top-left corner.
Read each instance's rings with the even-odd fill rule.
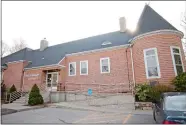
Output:
[[[10,52],[10,54],[11,53],[15,53],[15,52],[17,52],[17,51],[19,51],[21,49],[26,48],[26,47],[27,47],[27,44],[26,44],[25,40],[23,40],[23,39],[20,38],[18,40],[14,40],[14,44],[9,49],[9,52]]]

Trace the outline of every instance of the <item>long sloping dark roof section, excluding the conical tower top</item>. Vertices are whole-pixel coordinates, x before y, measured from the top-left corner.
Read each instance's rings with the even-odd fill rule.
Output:
[[[129,44],[128,41],[131,38],[132,34],[129,31],[124,33],[120,31],[110,32],[50,46],[43,51],[39,49],[31,51],[21,50],[3,58],[2,64],[16,60],[31,61],[26,68],[57,64],[66,54],[125,45]],[[103,46],[102,43],[105,41],[110,41],[112,44]]]

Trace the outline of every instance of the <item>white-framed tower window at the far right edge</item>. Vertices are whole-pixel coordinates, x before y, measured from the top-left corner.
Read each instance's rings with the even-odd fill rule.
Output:
[[[170,49],[171,49],[175,76],[177,76],[178,74],[185,72],[182,57],[181,57],[181,50],[180,47],[175,47],[175,46],[171,46]]]

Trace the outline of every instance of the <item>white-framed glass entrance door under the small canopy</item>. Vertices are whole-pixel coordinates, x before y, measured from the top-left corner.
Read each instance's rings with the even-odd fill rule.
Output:
[[[56,91],[57,90],[57,83],[58,83],[58,72],[50,72],[50,73],[47,73],[47,88],[51,91],[51,90],[54,90]]]

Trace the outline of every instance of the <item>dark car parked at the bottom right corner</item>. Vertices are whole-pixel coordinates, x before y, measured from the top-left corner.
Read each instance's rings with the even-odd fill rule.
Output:
[[[186,124],[186,92],[163,93],[153,102],[153,117],[158,124]]]

